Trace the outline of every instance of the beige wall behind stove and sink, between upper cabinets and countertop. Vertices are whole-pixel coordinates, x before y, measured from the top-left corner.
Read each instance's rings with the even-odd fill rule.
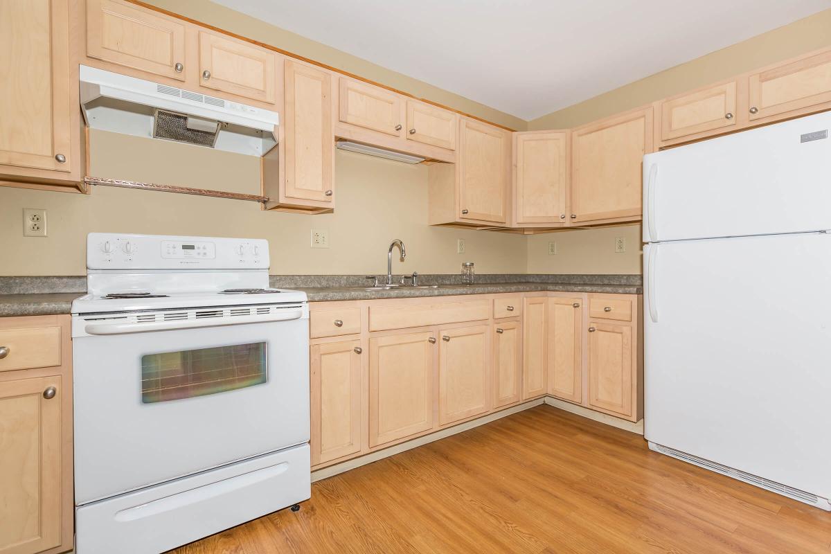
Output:
[[[253,167],[252,167],[253,164]],[[257,203],[94,187],[92,194],[0,187],[0,275],[82,275],[86,233],[193,234],[267,238],[272,274],[386,272],[386,248],[401,238],[406,262],[395,272],[455,273],[476,262],[483,273],[522,273],[525,238],[427,225],[427,168],[337,151],[337,211],[264,212]],[[258,159],[103,131],[91,132],[98,177],[148,179],[257,193]],[[176,179],[176,180],[172,180]],[[22,209],[47,208],[47,238],[22,236]],[[331,248],[310,248],[312,228]],[[456,239],[464,238],[465,254]]]

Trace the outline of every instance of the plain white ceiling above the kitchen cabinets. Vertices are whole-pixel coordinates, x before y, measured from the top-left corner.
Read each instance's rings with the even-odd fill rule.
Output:
[[[525,120],[831,7],[831,0],[214,2]]]

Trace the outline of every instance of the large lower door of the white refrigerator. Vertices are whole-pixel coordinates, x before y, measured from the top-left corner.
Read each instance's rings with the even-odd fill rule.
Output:
[[[831,234],[643,253],[646,438],[831,497]]]

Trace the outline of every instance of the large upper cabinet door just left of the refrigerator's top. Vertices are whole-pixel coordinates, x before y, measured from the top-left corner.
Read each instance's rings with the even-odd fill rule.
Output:
[[[572,132],[569,221],[640,218],[643,154],[652,151],[652,107]]]

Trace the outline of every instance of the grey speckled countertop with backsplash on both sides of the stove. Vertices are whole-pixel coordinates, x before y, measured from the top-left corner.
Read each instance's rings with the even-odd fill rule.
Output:
[[[386,278],[386,276],[384,276]],[[396,276],[398,281],[401,276]],[[381,298],[445,297],[500,292],[612,292],[640,294],[640,275],[481,275],[463,285],[458,275],[422,275],[435,288],[394,287],[366,291],[369,281],[354,275],[271,276],[271,287],[306,292],[310,302]],[[72,301],[85,294],[86,277],[0,277],[0,316],[48,316],[71,313]]]

